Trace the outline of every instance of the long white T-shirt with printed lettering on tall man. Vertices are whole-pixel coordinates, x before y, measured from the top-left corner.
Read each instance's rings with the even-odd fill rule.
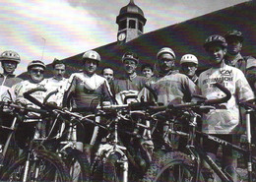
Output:
[[[224,64],[222,68],[211,68],[199,76],[198,85],[203,96],[208,99],[224,97],[224,92],[213,86],[222,83],[231,92],[231,98],[203,116],[203,132],[208,134],[239,134],[244,127],[239,122],[237,103],[254,98],[242,71]]]

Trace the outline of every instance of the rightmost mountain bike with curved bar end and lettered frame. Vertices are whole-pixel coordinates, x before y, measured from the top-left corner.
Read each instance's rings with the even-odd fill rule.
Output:
[[[196,131],[197,119],[200,117],[199,112],[207,112],[210,109],[215,109],[215,104],[225,102],[229,99],[230,93],[224,87],[217,85],[219,89],[224,91],[226,96],[217,100],[204,100],[198,102],[191,102],[185,104],[168,105],[168,110],[183,113],[189,125],[189,132],[169,130],[170,134],[179,135],[188,139],[186,145],[186,152],[170,151],[161,152],[161,155],[156,154],[152,165],[149,167],[143,181],[206,181],[212,174],[202,168],[202,161],[208,163],[213,171],[219,176],[222,181],[233,181],[231,176],[227,173],[227,169],[222,169],[211,156],[204,151],[201,145],[196,141],[196,137],[205,137],[213,143],[218,143],[224,147],[233,149],[237,152],[243,153],[247,162],[247,179],[246,181],[255,181],[255,159],[251,155],[250,147],[250,121],[247,112],[247,149],[242,149],[239,146],[230,144],[218,137],[201,133]],[[251,108],[256,108],[254,105],[248,105]],[[163,108],[163,107],[161,107]],[[166,108],[166,107],[165,107]],[[160,109],[160,107],[158,108]]]

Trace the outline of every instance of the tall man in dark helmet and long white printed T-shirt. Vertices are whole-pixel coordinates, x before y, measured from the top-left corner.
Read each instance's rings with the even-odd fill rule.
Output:
[[[244,74],[237,68],[228,66],[224,63],[226,53],[226,42],[223,36],[214,34],[209,36],[204,48],[209,55],[212,68],[200,74],[198,86],[203,96],[208,99],[223,97],[224,93],[216,88],[213,84],[219,82],[231,92],[231,98],[223,104],[217,105],[217,109],[210,110],[203,115],[202,131],[206,134],[214,134],[217,137],[233,143],[239,143],[239,136],[244,132],[239,118],[238,101],[247,101],[254,98]],[[219,145],[204,140],[204,149],[216,158]],[[231,149],[223,148],[223,168],[236,181],[237,159]],[[207,166],[206,166],[207,168]],[[213,180],[212,171],[206,170],[209,181]]]

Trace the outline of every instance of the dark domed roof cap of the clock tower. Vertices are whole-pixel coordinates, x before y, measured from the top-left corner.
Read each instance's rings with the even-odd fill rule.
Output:
[[[137,17],[141,19],[144,24],[147,21],[144,17],[142,9],[134,3],[134,0],[130,0],[128,5],[121,8],[119,15],[116,17],[116,23],[118,23],[121,18],[126,16]]]

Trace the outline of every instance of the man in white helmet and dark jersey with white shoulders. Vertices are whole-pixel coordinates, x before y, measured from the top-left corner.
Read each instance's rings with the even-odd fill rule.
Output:
[[[94,50],[86,51],[83,55],[84,70],[70,76],[67,90],[64,93],[63,106],[71,98],[70,107],[81,113],[94,112],[99,100],[112,102],[112,94],[105,78],[96,74],[100,62],[99,54]],[[86,131],[85,131],[86,129]],[[78,149],[83,150],[84,144],[95,144],[98,128],[94,125],[81,124],[77,126]],[[93,136],[93,138],[92,138]]]

